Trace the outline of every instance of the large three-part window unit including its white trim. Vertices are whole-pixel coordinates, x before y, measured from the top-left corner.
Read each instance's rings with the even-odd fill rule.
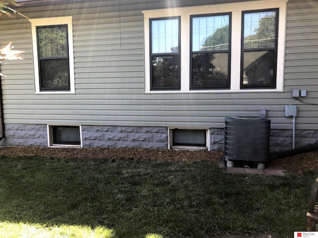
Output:
[[[282,92],[286,1],[145,10],[145,92]]]

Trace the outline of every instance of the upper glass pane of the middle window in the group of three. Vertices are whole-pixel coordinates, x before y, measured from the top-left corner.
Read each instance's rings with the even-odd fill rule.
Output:
[[[192,18],[192,51],[229,49],[229,15]]]

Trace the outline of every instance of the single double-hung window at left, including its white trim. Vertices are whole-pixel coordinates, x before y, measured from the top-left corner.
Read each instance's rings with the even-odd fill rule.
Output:
[[[74,93],[72,17],[30,19],[36,93]]]

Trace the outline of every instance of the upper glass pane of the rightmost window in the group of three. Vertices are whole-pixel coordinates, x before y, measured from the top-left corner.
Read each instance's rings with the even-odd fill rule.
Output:
[[[244,49],[275,47],[275,33],[276,11],[244,14]]]

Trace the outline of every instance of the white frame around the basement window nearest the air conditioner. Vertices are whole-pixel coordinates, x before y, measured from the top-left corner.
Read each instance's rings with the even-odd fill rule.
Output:
[[[173,145],[173,138],[172,138],[172,131],[174,129],[183,129],[183,130],[205,130],[206,131],[206,146],[179,146],[179,145]],[[168,150],[174,149],[174,150],[208,150],[210,151],[210,133],[211,128],[200,128],[200,127],[167,127],[167,134],[168,134]]]

